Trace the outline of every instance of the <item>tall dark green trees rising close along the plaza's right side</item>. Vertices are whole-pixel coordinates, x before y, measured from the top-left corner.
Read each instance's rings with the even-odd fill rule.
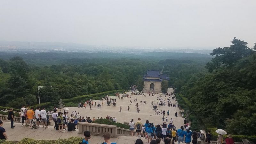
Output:
[[[255,50],[256,44],[250,49],[246,42],[234,38],[230,47],[213,50],[214,58],[206,65],[209,73],[197,73],[178,91],[207,127],[255,135]]]

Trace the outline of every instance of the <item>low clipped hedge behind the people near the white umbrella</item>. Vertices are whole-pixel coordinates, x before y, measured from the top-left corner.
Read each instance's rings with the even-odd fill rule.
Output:
[[[218,137],[218,133],[216,133],[215,131],[217,130],[217,128],[207,128],[207,131],[211,132],[212,135],[212,140],[217,140]],[[242,139],[247,139],[253,142],[256,142],[256,135],[252,135],[252,136],[248,136],[248,135],[232,135],[233,139],[235,142],[243,142]],[[227,138],[227,135],[223,135],[223,140],[225,140]]]

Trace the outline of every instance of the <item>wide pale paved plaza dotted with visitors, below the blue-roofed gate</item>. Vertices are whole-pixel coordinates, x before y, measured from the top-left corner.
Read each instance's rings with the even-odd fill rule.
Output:
[[[173,89],[168,89],[167,92],[173,92]],[[130,95],[130,92],[129,92]],[[132,98],[124,98],[124,100],[116,99],[116,107],[113,107],[112,105],[107,106],[107,102],[103,100],[103,106],[101,109],[98,109],[97,106],[93,106],[92,110],[90,110],[90,106],[86,105],[85,108],[78,108],[78,107],[65,107],[69,109],[69,115],[72,114],[72,111],[76,111],[81,113],[81,117],[84,116],[90,116],[91,119],[95,117],[97,119],[98,117],[105,118],[107,115],[111,117],[116,117],[117,122],[119,123],[124,123],[124,122],[129,122],[132,118],[134,119],[134,122],[138,120],[138,118],[141,118],[141,122],[144,124],[146,123],[146,120],[149,120],[149,123],[154,123],[154,124],[163,124],[163,116],[160,115],[155,115],[155,111],[153,110],[153,105],[150,105],[150,101],[156,100],[157,95],[155,96],[149,96],[148,94],[145,94],[146,97],[142,95],[133,95]],[[136,112],[136,107],[135,104],[136,102],[134,99],[137,98],[137,103],[139,103],[139,108],[140,112]],[[164,97],[167,98],[168,96]],[[130,105],[130,100],[132,100],[132,104]],[[140,100],[142,100],[142,104],[140,104]],[[147,100],[147,104],[143,104],[143,101]],[[98,104],[98,102],[102,102],[102,100],[93,100]],[[175,100],[172,100],[172,103],[175,103]],[[119,112],[120,106],[122,106],[122,112]],[[130,107],[130,111],[127,111],[128,106]],[[171,118],[173,119],[173,124],[176,126],[176,128],[180,128],[181,125],[184,124],[184,119],[181,117],[179,114],[179,108],[174,108],[174,107],[167,107],[166,106],[157,106],[157,109],[160,110],[165,110],[165,116],[164,116],[164,122],[166,120],[166,117],[168,119],[168,122],[170,123]],[[169,110],[170,115],[167,116],[167,111]],[[178,113],[178,117],[175,117],[175,112]]]

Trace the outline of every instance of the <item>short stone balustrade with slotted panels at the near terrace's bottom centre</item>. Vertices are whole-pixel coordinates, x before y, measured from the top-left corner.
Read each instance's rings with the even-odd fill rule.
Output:
[[[116,125],[79,122],[78,126],[78,133],[81,134],[84,134],[84,131],[89,131],[92,135],[103,136],[104,133],[109,133],[111,137],[117,137]]]

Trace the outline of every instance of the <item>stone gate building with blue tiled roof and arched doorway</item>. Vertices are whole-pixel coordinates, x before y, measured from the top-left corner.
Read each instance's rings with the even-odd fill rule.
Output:
[[[162,92],[161,84],[163,80],[170,80],[166,74],[162,74],[159,70],[148,70],[143,76],[144,91]]]

